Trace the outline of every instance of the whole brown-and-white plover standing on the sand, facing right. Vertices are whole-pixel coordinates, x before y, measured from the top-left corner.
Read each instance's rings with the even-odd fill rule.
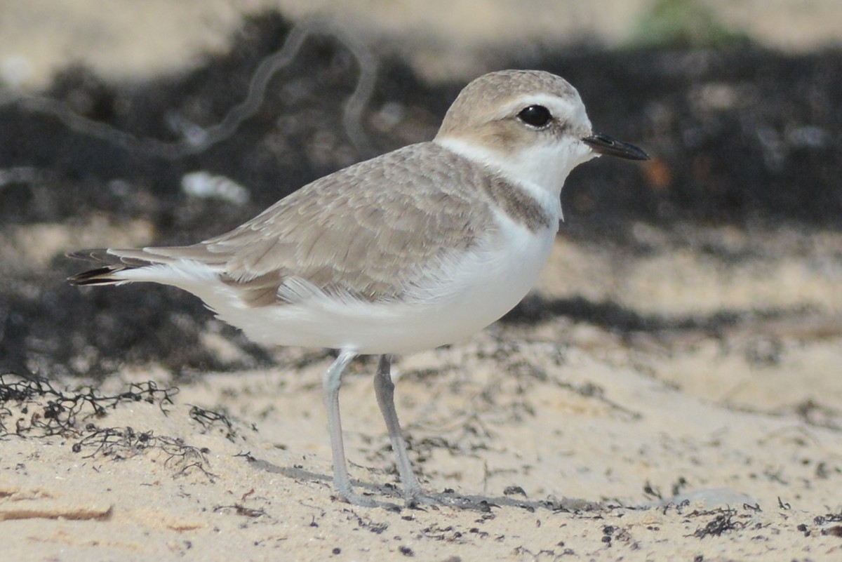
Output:
[[[395,412],[392,354],[454,342],[535,284],[562,216],[568,173],[646,152],[591,130],[578,92],[547,72],[468,84],[434,140],[318,179],[231,232],[184,247],[90,250],[78,285],[148,281],[197,295],[266,345],[330,347],[324,400],[338,496],[351,490],[339,420],[344,369],[381,355],[374,379],[408,504],[435,501],[413,474]]]

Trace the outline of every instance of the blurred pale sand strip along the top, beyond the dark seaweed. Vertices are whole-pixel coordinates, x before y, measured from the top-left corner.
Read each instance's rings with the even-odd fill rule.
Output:
[[[332,21],[428,80],[463,81],[513,52],[571,45],[726,47],[742,35],[797,54],[842,39],[834,0],[3,0],[3,82],[45,87],[74,62],[117,81],[184,72],[230,50],[243,17],[269,11]]]

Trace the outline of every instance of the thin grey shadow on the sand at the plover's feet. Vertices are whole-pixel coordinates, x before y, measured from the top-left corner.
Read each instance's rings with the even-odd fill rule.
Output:
[[[301,469],[298,467],[278,466],[270,463],[268,460],[257,459],[250,453],[245,455],[248,463],[255,469],[265,470],[266,472],[278,475],[284,475],[288,478],[296,480],[319,480],[324,482],[331,482],[333,479],[328,475],[322,475],[310,470]],[[426,509],[430,506],[451,506],[460,509],[467,509],[477,512],[491,512],[493,507],[519,507],[528,512],[536,512],[538,510],[546,510],[550,512],[596,512],[603,511],[607,506],[600,502],[581,500],[576,498],[562,498],[552,500],[528,500],[525,497],[511,496],[482,496],[482,495],[461,495],[456,494],[452,490],[445,490],[443,492],[428,492],[425,496],[431,502],[421,501],[415,505],[397,504],[391,501],[380,501],[375,499],[376,496],[386,498],[396,498],[403,501],[401,490],[396,485],[375,485],[369,482],[362,482],[360,480],[352,480],[351,483],[358,490],[365,490],[363,493],[366,500],[377,507],[383,507],[390,511],[400,512],[402,509]],[[523,493],[520,490],[519,494]],[[431,503],[432,505],[429,505]]]

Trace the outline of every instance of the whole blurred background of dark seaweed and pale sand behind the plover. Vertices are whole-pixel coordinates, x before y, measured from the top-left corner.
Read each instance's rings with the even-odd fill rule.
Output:
[[[558,252],[506,322],[738,342],[750,368],[815,344],[829,373],[840,40],[838,0],[2,0],[0,372],[269,364],[284,352],[175,289],[67,286],[84,264],[64,252],[219,234],[429,140],[472,77],[523,67],[566,77],[595,128],[653,160],[573,172]]]

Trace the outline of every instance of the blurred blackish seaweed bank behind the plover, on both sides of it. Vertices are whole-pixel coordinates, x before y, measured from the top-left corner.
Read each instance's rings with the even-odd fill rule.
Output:
[[[266,14],[193,72],[111,84],[70,68],[45,98],[0,105],[0,228],[99,215],[148,220],[160,244],[199,241],[323,174],[429,139],[464,85],[431,87],[401,61],[381,61],[360,142],[343,126],[358,61],[337,38],[316,35],[271,77],[256,114],[220,142],[180,153],[189,130],[209,130],[242,102],[288,31]],[[643,166],[603,159],[573,172],[562,197],[568,236],[623,243],[635,221],[842,226],[839,51],[547,49],[500,66],[568,78],[594,127],[653,154]],[[247,187],[251,199],[185,195],[181,178],[197,170]],[[269,362],[233,331],[245,359],[206,348],[210,315],[194,298],[152,286],[80,293],[63,281],[79,268],[56,257],[28,278],[0,279],[0,372],[107,374],[154,361],[184,374]]]

